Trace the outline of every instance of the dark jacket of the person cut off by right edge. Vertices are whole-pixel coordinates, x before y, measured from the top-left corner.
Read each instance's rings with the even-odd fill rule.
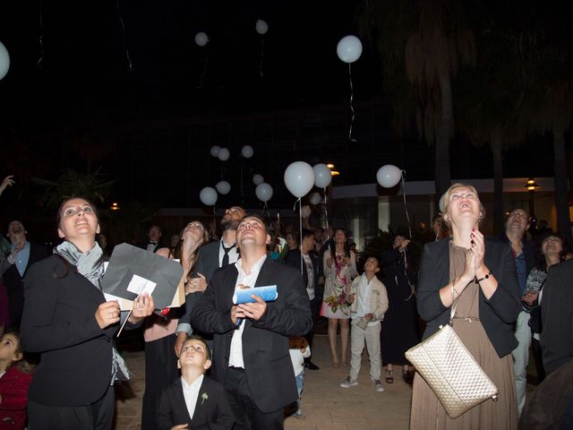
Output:
[[[543,286],[541,348],[551,374],[573,358],[573,260],[552,266]]]

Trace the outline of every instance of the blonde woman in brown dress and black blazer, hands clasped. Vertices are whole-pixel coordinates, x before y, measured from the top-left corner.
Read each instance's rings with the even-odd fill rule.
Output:
[[[517,402],[510,353],[517,346],[513,323],[521,304],[511,248],[484,241],[479,225],[485,212],[473,186],[451,185],[444,206],[452,238],[424,246],[416,289],[418,312],[427,323],[423,339],[449,323],[454,305],[453,330],[499,389],[498,401],[483,401],[452,419],[416,374],[410,428],[515,429]]]

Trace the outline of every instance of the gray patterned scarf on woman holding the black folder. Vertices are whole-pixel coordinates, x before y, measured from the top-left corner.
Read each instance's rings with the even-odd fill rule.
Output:
[[[101,289],[101,279],[104,275],[104,259],[103,251],[97,242],[90,251],[82,253],[72,242],[64,240],[64,242],[54,248],[54,254],[60,255],[65,261],[76,267],[81,276],[89,280],[99,291],[103,292]],[[126,318],[126,314],[127,313],[122,312],[122,317]],[[124,318],[122,318],[122,321]],[[112,348],[112,351],[113,365],[111,383],[113,385],[115,380],[128,380],[130,373],[127,366],[125,366],[124,358],[119,355],[115,346]]]

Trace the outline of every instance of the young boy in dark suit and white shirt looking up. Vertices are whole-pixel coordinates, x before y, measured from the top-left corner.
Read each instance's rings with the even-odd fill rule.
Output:
[[[205,376],[211,366],[205,341],[194,336],[185,340],[177,366],[181,369],[181,378],[175,379],[161,394],[158,428],[231,429],[235,416],[225,388]]]

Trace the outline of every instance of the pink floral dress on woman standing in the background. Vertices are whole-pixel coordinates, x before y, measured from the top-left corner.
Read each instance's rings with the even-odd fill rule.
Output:
[[[350,263],[346,264],[345,254],[336,253],[334,262],[326,263],[331,257],[330,250],[324,252],[324,299],[321,315],[327,318],[350,318],[350,305],[346,303],[346,295],[350,292],[352,280],[358,275],[356,271],[356,255],[350,251]]]

